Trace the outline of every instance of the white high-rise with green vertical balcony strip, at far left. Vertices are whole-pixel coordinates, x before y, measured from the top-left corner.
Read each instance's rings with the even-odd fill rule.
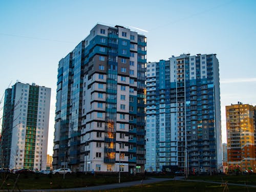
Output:
[[[51,89],[17,82],[5,91],[1,166],[46,169]]]

